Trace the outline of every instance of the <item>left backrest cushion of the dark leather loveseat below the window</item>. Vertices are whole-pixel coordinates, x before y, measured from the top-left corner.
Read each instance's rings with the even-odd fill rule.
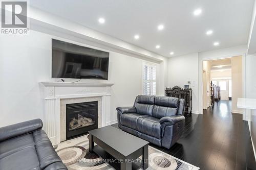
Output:
[[[152,111],[155,103],[153,95],[138,95],[134,102],[136,112],[139,114],[152,116]]]

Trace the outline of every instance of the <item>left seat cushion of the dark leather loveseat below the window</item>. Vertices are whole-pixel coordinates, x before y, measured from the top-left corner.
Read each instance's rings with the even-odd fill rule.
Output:
[[[125,113],[120,115],[120,122],[122,126],[126,126],[137,130],[137,120],[140,117],[146,117],[147,115],[141,115],[137,113]]]

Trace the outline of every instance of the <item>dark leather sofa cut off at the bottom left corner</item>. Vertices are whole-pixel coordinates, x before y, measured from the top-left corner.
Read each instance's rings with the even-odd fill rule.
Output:
[[[41,128],[41,119],[0,128],[1,170],[67,169]]]

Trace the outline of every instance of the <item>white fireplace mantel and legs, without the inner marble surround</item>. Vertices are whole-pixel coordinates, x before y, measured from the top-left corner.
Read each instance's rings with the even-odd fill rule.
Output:
[[[113,83],[39,82],[39,84],[44,89],[44,129],[52,144],[60,143],[61,99],[101,97],[101,126],[106,126],[106,117],[110,117],[110,95]]]

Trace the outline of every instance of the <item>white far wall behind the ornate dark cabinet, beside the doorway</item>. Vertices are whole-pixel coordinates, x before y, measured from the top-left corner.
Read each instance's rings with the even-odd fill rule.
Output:
[[[172,57],[168,60],[168,87],[184,88],[187,81],[193,90],[192,113],[198,113],[198,53]]]

